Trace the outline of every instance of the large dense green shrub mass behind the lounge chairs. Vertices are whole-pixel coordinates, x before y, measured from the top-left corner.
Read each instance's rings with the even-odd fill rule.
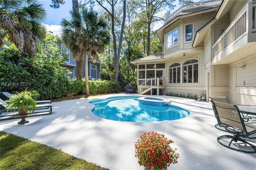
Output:
[[[19,53],[14,46],[0,50],[1,91],[36,90],[41,99],[66,96],[69,71],[62,65],[67,56],[60,54],[56,41],[53,36],[46,36],[32,57]]]

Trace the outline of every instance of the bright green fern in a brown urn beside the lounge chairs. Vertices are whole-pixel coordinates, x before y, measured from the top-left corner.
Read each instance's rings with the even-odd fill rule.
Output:
[[[18,114],[21,118],[21,121],[18,122],[18,124],[25,124],[29,122],[26,120],[26,117],[28,114],[35,111],[36,101],[33,97],[36,97],[37,95],[38,93],[36,91],[30,92],[26,90],[13,95],[13,97],[7,101],[9,103],[7,106],[8,111],[10,109],[18,109]]]

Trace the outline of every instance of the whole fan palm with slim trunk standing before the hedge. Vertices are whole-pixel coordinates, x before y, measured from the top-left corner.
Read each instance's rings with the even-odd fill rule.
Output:
[[[107,22],[95,11],[82,8],[70,11],[69,19],[62,19],[62,40],[70,48],[76,60],[85,56],[85,93],[89,94],[88,55],[94,62],[109,44]],[[81,71],[82,74],[82,71]]]

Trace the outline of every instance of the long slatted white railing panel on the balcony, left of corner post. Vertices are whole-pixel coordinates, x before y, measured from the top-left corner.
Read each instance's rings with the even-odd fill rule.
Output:
[[[212,57],[214,58],[223,50],[234,44],[247,33],[247,8],[229,25],[220,38],[212,46]]]

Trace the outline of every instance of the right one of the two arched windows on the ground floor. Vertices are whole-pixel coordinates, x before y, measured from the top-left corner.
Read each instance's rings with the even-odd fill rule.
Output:
[[[182,65],[183,83],[198,83],[198,60],[189,59]]]

